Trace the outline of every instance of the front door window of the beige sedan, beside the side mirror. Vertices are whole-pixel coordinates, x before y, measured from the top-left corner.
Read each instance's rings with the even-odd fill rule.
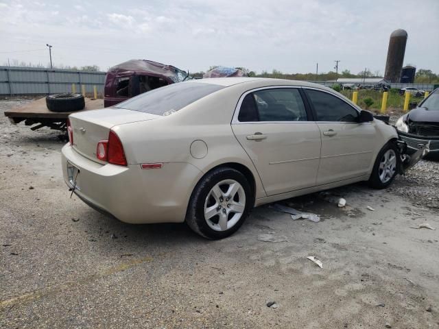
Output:
[[[358,122],[358,112],[342,99],[318,90],[305,89],[314,110],[317,121]]]

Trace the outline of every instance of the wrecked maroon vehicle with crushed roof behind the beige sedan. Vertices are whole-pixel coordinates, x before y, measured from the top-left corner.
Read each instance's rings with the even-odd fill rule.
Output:
[[[189,78],[189,73],[175,66],[152,60],[128,60],[108,70],[105,77],[104,107]]]

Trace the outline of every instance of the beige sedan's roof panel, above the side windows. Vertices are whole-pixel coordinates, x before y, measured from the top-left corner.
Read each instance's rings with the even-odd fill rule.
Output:
[[[209,77],[198,80],[189,80],[190,82],[197,82],[201,84],[217,84],[219,86],[234,86],[235,84],[244,84],[247,82],[266,82],[270,86],[309,86],[309,87],[322,87],[319,84],[313,84],[311,82],[298,81],[298,80],[285,80],[285,79],[272,79],[269,77]]]

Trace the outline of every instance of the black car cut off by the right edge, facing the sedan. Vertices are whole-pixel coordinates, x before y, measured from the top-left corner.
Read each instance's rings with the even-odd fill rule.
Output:
[[[439,155],[439,88],[399,118],[395,127],[412,151],[430,142],[429,154]]]

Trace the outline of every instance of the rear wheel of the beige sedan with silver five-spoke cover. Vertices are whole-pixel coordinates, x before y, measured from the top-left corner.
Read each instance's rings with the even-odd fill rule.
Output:
[[[195,186],[186,222],[207,239],[222,239],[238,230],[253,204],[252,188],[241,172],[213,169]]]

